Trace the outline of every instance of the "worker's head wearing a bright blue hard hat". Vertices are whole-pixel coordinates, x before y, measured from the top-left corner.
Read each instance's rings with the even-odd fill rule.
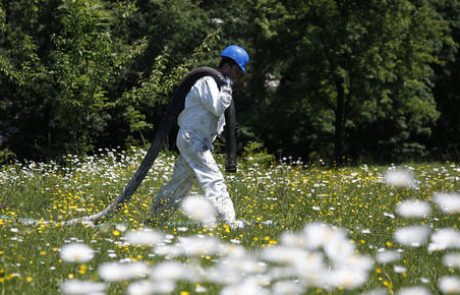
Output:
[[[246,74],[246,65],[249,62],[249,55],[246,50],[240,46],[227,46],[220,53],[220,57],[222,59],[219,64],[219,69],[224,75],[234,79],[239,71],[243,71],[243,73]]]

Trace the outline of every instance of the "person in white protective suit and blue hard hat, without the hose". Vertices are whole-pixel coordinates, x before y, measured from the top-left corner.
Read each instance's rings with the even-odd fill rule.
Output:
[[[220,90],[210,76],[198,79],[185,97],[185,107],[179,114],[176,144],[180,155],[171,180],[156,196],[151,216],[154,223],[165,221],[198,181],[204,196],[216,208],[219,216],[231,227],[242,227],[235,218],[235,210],[224,177],[212,155],[212,143],[223,131],[224,112],[232,101],[232,80],[239,72],[246,73],[247,52],[236,45],[226,47],[220,54],[217,68],[225,76]]]

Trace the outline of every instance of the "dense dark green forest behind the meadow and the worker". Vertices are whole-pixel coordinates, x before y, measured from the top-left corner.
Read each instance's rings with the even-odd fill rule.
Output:
[[[148,143],[229,44],[242,148],[457,161],[459,33],[457,0],[0,0],[0,162]]]

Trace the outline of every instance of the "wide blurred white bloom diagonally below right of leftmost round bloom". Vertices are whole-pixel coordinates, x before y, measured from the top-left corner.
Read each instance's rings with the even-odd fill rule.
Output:
[[[150,268],[143,262],[109,262],[99,266],[99,276],[107,282],[125,281],[145,277]]]

